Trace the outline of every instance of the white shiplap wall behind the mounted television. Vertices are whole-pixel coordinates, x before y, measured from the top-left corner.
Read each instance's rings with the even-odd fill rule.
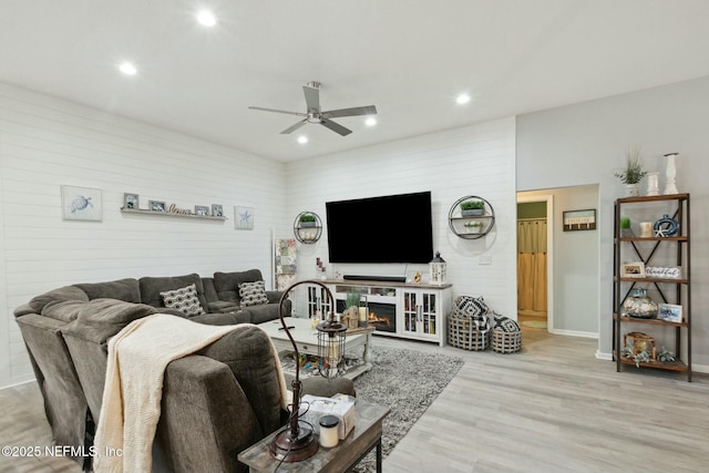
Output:
[[[434,251],[448,263],[454,295],[483,295],[499,312],[516,318],[515,121],[503,119],[400,140],[347,153],[288,164],[289,215],[312,210],[326,220],[325,203],[379,195],[431,191]],[[448,225],[452,204],[479,195],[495,208],[494,230],[477,240],[461,239]],[[376,232],[359,217],[352,229]],[[401,229],[401,243],[415,238]],[[299,245],[299,278],[314,277],[317,257],[335,273],[402,275],[405,265],[328,264],[327,228],[315,245]],[[480,265],[480,257],[492,258]],[[428,265],[411,265],[428,277]]]

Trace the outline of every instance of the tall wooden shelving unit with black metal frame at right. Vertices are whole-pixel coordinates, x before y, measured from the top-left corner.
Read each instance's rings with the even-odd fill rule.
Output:
[[[620,218],[627,212],[655,213],[672,215],[679,224],[677,235],[662,237],[621,236]],[[689,228],[689,194],[674,194],[650,197],[627,197],[615,202],[614,210],[614,294],[613,294],[613,356],[617,371],[623,366],[636,366],[631,358],[623,357],[621,338],[624,326],[635,329],[646,327],[657,330],[669,338],[657,343],[674,348],[676,361],[660,362],[650,360],[637,363],[639,368],[651,368],[686,373],[691,381],[691,255]],[[628,261],[641,261],[645,266],[680,267],[679,278],[628,277],[621,276],[621,266]],[[674,322],[658,318],[641,319],[628,317],[623,312],[623,304],[630,291],[638,285],[648,285],[660,297],[657,302],[682,306],[682,321]],[[669,336],[667,335],[669,332]],[[682,343],[682,340],[685,342]]]

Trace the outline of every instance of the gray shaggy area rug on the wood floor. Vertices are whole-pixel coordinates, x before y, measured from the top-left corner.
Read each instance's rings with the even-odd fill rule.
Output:
[[[464,361],[446,354],[377,346],[370,348],[370,361],[372,369],[354,380],[354,389],[358,398],[391,409],[383,422],[382,457],[386,457]],[[352,471],[376,472],[376,452],[370,452]]]

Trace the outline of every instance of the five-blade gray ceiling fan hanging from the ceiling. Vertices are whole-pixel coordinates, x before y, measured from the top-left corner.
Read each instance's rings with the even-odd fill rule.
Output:
[[[329,110],[327,112],[320,111],[320,82],[308,82],[302,86],[302,92],[306,95],[306,105],[308,106],[308,111],[306,113],[301,112],[288,112],[285,110],[275,110],[275,109],[264,109],[261,106],[249,106],[251,110],[260,110],[264,112],[276,112],[276,113],[286,113],[288,115],[297,115],[304,116],[304,119],[296,123],[295,125],[284,130],[280,132],[281,135],[287,135],[288,133],[292,133],[306,123],[319,123],[326,128],[332,130],[335,133],[340,134],[341,136],[347,136],[352,133],[351,130],[346,128],[339,123],[333,122],[330,119],[338,119],[342,116],[358,116],[358,115],[376,115],[377,107],[374,105],[368,106],[354,106],[351,109],[338,109],[338,110]]]

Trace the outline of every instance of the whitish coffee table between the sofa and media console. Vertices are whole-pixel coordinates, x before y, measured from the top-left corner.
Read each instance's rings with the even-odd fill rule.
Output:
[[[300,354],[318,354],[318,331],[310,327],[310,319],[286,317],[284,318],[290,336],[298,346]],[[282,330],[280,320],[271,320],[268,322],[258,323],[258,327],[263,329],[268,337],[274,341],[276,349],[281,351],[292,351],[292,343],[288,339],[288,335]],[[292,328],[291,328],[292,327]],[[362,348],[362,362],[360,364],[350,367],[345,374],[345,378],[354,379],[358,376],[371,370],[372,363],[369,360],[369,345],[371,343],[371,333],[374,331],[373,327],[349,329],[345,338],[345,352],[352,353],[358,348]],[[301,370],[302,373],[302,370]]]

